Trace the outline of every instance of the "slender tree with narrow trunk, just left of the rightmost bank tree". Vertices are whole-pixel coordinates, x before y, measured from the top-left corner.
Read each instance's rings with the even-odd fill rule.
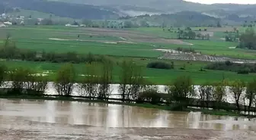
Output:
[[[229,87],[230,91],[233,93],[233,97],[235,98],[235,104],[238,108],[238,112],[240,112],[240,97],[242,95],[242,92],[245,90],[245,82],[241,80],[235,80],[231,83],[231,86]]]

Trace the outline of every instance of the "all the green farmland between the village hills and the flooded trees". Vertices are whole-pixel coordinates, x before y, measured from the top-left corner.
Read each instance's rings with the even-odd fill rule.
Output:
[[[213,30],[213,29],[209,29]],[[226,29],[222,29],[226,30]],[[254,74],[240,75],[234,72],[206,70],[202,67],[211,62],[201,61],[174,61],[158,60],[165,52],[156,49],[171,49],[178,47],[194,48],[205,55],[218,57],[243,58],[256,60],[255,52],[240,48],[234,48],[237,42],[225,42],[220,37],[223,35],[220,29],[213,32],[211,40],[178,40],[174,33],[163,31],[159,27],[136,28],[130,30],[110,30],[103,28],[68,27],[68,26],[9,26],[0,28],[0,41],[3,42],[7,34],[11,35],[11,41],[17,48],[26,48],[34,51],[47,51],[66,53],[75,51],[78,54],[104,54],[114,61],[114,82],[119,82],[120,67],[118,63],[123,60],[133,60],[139,66],[144,67],[143,76],[154,84],[166,84],[177,76],[191,76],[194,82],[201,84],[209,81],[219,81],[223,78],[245,81],[254,78]],[[152,61],[171,63],[174,61],[174,70],[158,70],[146,68]],[[34,67],[36,70],[58,70],[62,64],[33,61],[2,61],[8,67]],[[75,64],[78,73],[82,73],[85,64]],[[185,67],[185,70],[180,70]]]

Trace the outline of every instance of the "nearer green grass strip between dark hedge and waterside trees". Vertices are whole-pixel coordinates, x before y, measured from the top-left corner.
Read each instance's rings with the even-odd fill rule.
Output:
[[[123,61],[123,59],[130,59],[130,58],[113,58],[116,60],[116,63]],[[219,82],[224,78],[229,80],[236,80],[236,79],[242,79],[247,81],[250,81],[251,79],[256,78],[256,74],[248,74],[248,75],[241,75],[233,72],[227,72],[227,71],[219,71],[219,70],[206,70],[206,72],[201,72],[200,68],[204,67],[206,65],[206,62],[190,62],[190,64],[187,64],[186,61],[174,61],[174,70],[159,70],[159,69],[149,69],[146,68],[146,64],[149,63],[149,61],[155,61],[155,60],[149,60],[149,61],[141,61],[139,59],[133,59],[133,61],[144,67],[143,70],[143,76],[146,76],[146,79],[148,79],[150,82],[158,85],[165,85],[171,83],[174,79],[176,79],[178,76],[190,76],[194,84],[200,85],[205,82]],[[165,61],[167,63],[171,63],[170,61]],[[35,70],[38,70],[40,72],[46,71],[46,70],[53,70],[53,76],[50,76],[53,80],[54,73],[56,70],[58,70],[62,64],[52,64],[52,63],[46,63],[46,62],[29,62],[29,61],[2,61],[2,63],[5,63],[10,68],[15,67],[33,67]],[[179,70],[180,67],[186,67],[186,70]],[[74,64],[75,70],[78,73],[83,73],[83,70],[85,70],[85,64]],[[114,65],[114,81],[115,83],[120,82],[120,67],[116,64]],[[82,77],[78,77],[78,80]]]

